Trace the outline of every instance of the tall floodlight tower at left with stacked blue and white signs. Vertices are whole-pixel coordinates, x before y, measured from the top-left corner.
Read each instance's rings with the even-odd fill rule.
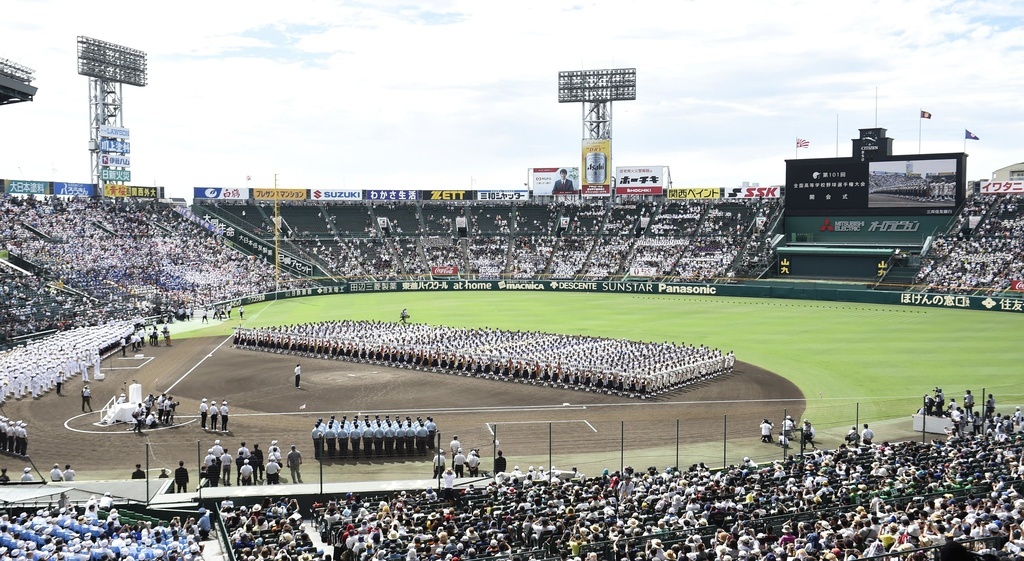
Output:
[[[106,41],[78,37],[78,73],[89,77],[89,155],[92,181],[97,195],[103,196],[104,182],[131,180],[128,171],[129,137],[122,114],[122,84],[145,87],[145,53]],[[120,157],[111,166],[103,165],[110,154]]]

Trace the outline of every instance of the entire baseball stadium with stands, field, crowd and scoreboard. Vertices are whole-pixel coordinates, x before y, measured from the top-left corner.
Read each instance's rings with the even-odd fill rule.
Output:
[[[597,134],[521,189],[4,179],[0,556],[1019,557],[1020,181]]]

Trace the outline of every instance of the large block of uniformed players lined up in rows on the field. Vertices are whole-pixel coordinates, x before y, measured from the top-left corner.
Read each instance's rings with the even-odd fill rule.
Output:
[[[250,350],[373,361],[641,398],[729,373],[735,363],[731,352],[703,345],[386,321],[240,328],[233,342]]]

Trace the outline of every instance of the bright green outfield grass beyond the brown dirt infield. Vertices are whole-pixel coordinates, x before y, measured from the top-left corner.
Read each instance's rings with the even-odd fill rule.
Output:
[[[682,341],[733,350],[797,384],[816,426],[906,417],[936,386],[947,400],[972,389],[999,409],[1024,397],[1021,316],[910,306],[803,300],[588,293],[382,293],[298,298],[247,306],[246,325],[326,319],[500,327]],[[182,337],[226,335],[238,321]],[[857,408],[859,407],[859,408]]]

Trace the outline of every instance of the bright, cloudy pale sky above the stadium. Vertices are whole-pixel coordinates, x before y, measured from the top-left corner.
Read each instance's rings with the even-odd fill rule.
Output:
[[[582,107],[558,71],[636,68],[614,103],[614,166],[674,186],[780,184],[800,158],[964,149],[969,176],[1024,161],[1024,3],[8,0],[0,57],[36,100],[0,107],[0,177],[88,181],[76,37],[148,54],[124,87],[134,184],[508,188],[580,161]],[[876,91],[878,102],[876,104]],[[922,110],[931,120],[919,119]]]

